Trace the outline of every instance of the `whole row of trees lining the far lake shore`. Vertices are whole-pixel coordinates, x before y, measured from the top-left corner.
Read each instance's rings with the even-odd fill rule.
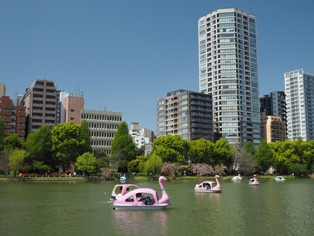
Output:
[[[73,166],[80,171],[111,173],[119,172],[168,173],[182,172],[181,166],[188,160],[188,171],[208,175],[214,173],[249,174],[264,172],[270,166],[279,172],[309,173],[314,169],[314,141],[267,143],[262,140],[257,149],[251,142],[242,145],[241,139],[235,145],[221,138],[212,143],[203,138],[188,142],[180,135],[166,135],[154,140],[152,152],[144,156],[145,147],[133,142],[128,125],[123,121],[111,142],[111,153],[93,152],[89,125],[73,122],[55,127],[41,126],[30,133],[26,141],[15,134],[4,135],[4,122],[0,119],[0,169],[8,173],[64,172]],[[109,167],[109,163],[111,163]],[[23,168],[21,168],[23,166]],[[165,173],[165,172],[164,172]]]

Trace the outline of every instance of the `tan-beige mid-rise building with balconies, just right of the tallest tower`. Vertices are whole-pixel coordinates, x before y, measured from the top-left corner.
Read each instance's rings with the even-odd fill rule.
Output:
[[[281,117],[266,115],[266,110],[261,112],[262,139],[270,142],[284,142],[286,139],[285,123]]]

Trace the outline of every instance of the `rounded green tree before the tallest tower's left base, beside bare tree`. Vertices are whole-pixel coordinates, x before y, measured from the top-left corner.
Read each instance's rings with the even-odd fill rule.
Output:
[[[233,155],[235,153],[236,151],[233,149],[233,147],[227,143],[227,139],[218,139],[214,146],[214,158],[211,166],[216,166],[221,163],[227,167],[230,167],[233,164]]]

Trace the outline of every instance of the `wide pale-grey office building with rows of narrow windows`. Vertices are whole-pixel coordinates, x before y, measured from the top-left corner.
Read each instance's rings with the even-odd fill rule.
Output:
[[[81,110],[81,121],[89,123],[93,151],[110,154],[111,142],[122,122],[122,113],[114,111]]]

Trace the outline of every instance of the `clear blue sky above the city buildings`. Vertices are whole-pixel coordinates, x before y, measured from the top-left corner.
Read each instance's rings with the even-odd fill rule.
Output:
[[[218,2],[218,1],[217,1]],[[74,93],[84,109],[122,111],[157,126],[157,99],[198,92],[198,18],[235,7],[257,17],[260,94],[284,73],[314,70],[314,1],[0,1],[0,82],[24,93],[35,77]]]

